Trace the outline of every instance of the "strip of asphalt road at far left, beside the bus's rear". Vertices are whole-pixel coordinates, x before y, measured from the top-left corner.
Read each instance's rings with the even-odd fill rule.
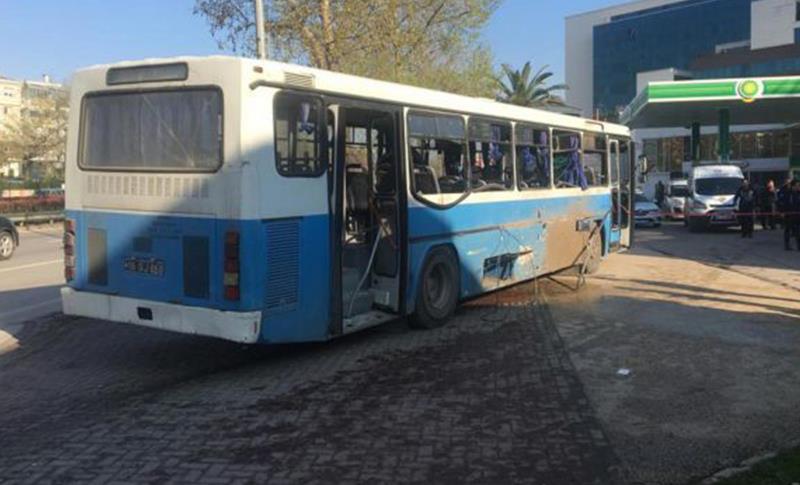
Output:
[[[61,226],[20,229],[14,256],[0,262],[0,331],[61,308],[64,282]]]

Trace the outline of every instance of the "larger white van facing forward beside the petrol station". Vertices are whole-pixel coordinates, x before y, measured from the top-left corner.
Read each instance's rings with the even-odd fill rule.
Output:
[[[691,231],[738,225],[733,200],[744,174],[736,165],[703,165],[689,175],[684,224]]]

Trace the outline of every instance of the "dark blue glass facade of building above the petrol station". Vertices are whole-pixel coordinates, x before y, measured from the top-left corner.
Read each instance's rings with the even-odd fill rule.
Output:
[[[800,28],[793,46],[751,50],[754,1],[684,0],[595,25],[594,109],[619,111],[637,94],[637,74],[659,69],[695,79],[800,74]]]

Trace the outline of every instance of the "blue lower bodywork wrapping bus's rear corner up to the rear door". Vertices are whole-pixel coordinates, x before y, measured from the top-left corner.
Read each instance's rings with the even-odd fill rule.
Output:
[[[328,217],[260,221],[67,211],[76,222],[69,286],[145,302],[262,311],[262,342],[329,338]],[[240,299],[224,297],[224,241],[239,233]],[[126,261],[157,261],[158,275]],[[205,293],[205,294],[203,294]]]

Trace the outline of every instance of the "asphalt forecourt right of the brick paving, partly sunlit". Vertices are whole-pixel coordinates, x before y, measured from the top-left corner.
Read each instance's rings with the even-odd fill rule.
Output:
[[[551,293],[626,482],[694,482],[798,443],[800,252],[781,236],[642,230],[583,291]]]

